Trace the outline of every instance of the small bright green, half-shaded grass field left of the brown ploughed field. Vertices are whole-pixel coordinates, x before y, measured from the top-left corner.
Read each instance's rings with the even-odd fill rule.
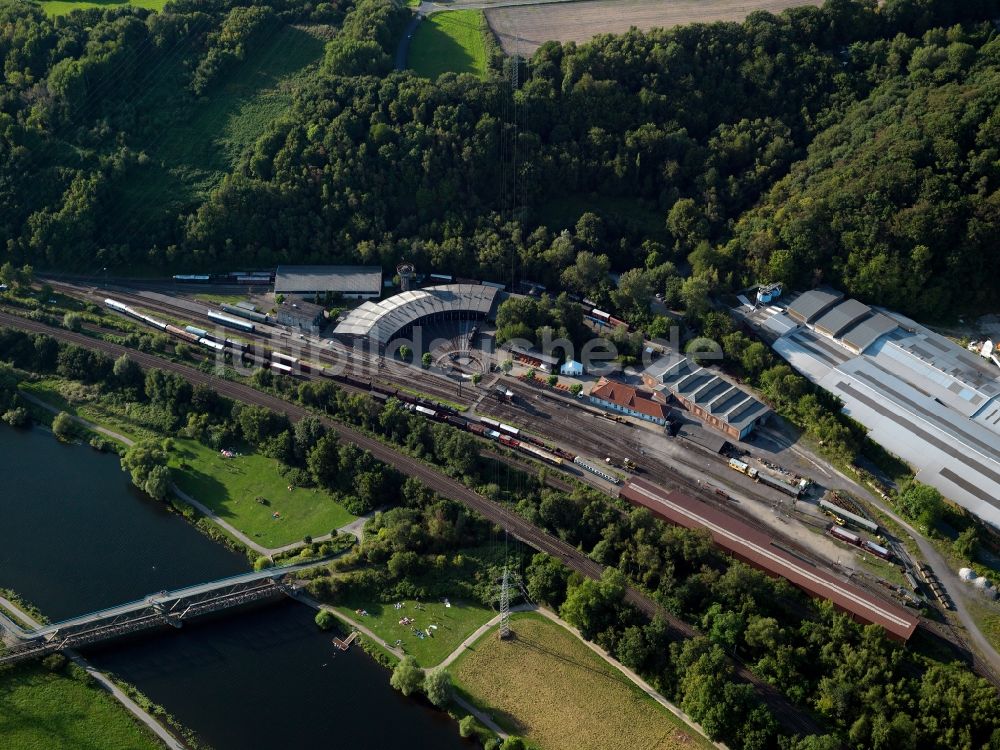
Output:
[[[409,66],[417,75],[442,73],[486,75],[482,11],[452,10],[425,18],[413,33]]]

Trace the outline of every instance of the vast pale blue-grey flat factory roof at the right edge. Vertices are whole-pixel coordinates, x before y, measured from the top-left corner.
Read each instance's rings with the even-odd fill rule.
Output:
[[[818,322],[780,337],[775,351],[920,481],[1000,527],[1000,370],[896,313],[865,318],[839,341]]]

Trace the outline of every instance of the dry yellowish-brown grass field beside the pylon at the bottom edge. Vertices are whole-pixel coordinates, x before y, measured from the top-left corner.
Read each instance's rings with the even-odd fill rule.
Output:
[[[545,750],[711,747],[573,634],[537,614],[511,617],[452,665],[456,684],[497,722]]]

